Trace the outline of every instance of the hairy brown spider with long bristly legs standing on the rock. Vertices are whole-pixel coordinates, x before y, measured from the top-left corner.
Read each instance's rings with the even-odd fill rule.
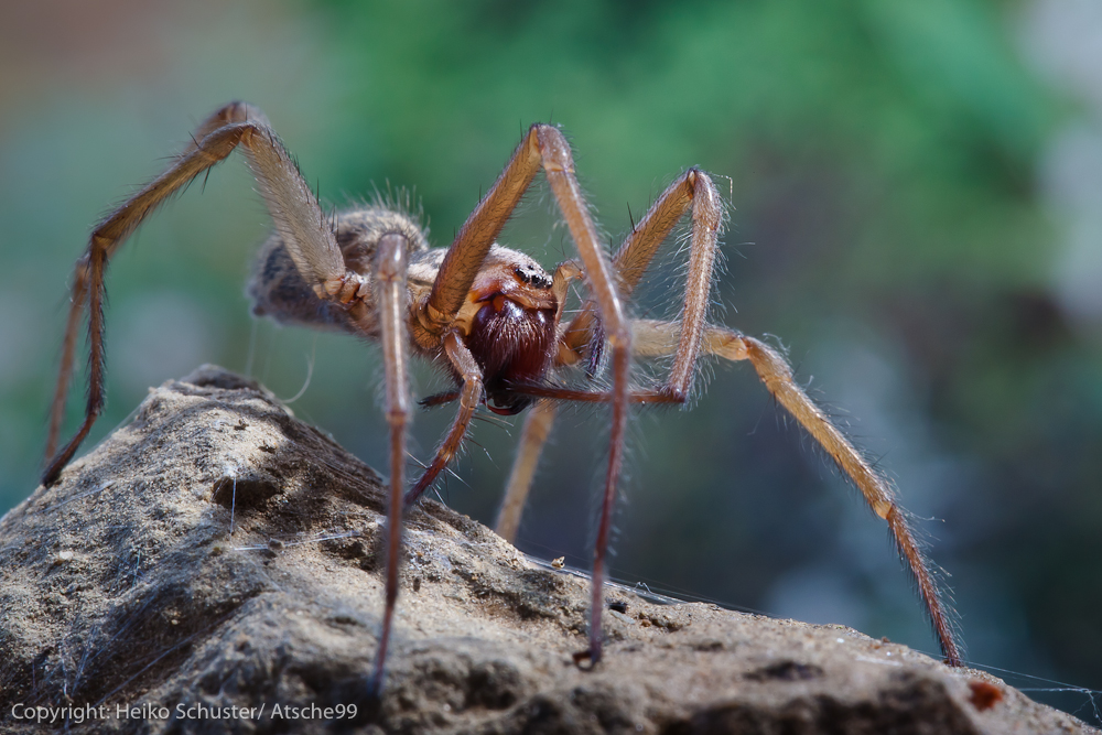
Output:
[[[953,628],[940,592],[906,514],[889,484],[862,457],[793,381],[784,357],[754,337],[707,323],[709,291],[723,204],[707,174],[689,169],[673,182],[608,258],[597,239],[590,207],[574,177],[571,150],[562,133],[533,125],[486,196],[447,249],[430,248],[421,227],[402,212],[365,206],[331,218],[317,203],[264,115],[244,102],[219,109],[195,131],[192,143],[169,169],[111,213],[91,233],[77,261],[73,301],[65,328],[62,366],[51,410],[43,483],[54,483],[104,407],[104,275],[107,262],[142,220],[195,176],[240,147],[256,176],[276,231],[263,246],[249,287],[253,311],[284,323],[335,327],[382,346],[386,418],[390,426],[389,532],[386,539],[386,606],[370,690],[380,691],[387,645],[398,598],[401,520],[460,451],[479,403],[503,414],[533,407],[522,432],[509,489],[498,520],[511,540],[543,440],[559,401],[612,403],[609,458],[593,559],[590,644],[575,655],[581,666],[601,660],[601,610],[613,501],[624,455],[630,403],[684,403],[698,358],[715,355],[749,360],[766,388],[860,488],[888,523],[896,545],[918,584],[946,661],[960,666]],[[528,256],[495,242],[540,169],[577,249],[579,260],[548,273]],[[685,215],[692,218],[687,285],[678,321],[631,320],[625,300],[639,283],[659,246]],[[563,323],[572,281],[584,282],[588,298]],[[77,329],[88,310],[89,376],[85,419],[76,435],[55,454],[73,372]],[[429,399],[457,401],[451,429],[421,477],[406,487],[406,428],[410,413],[408,355],[413,353],[450,371],[454,391]],[[607,391],[561,387],[549,379],[572,365],[592,374],[608,353]],[[630,385],[634,358],[672,358],[665,382]]]

